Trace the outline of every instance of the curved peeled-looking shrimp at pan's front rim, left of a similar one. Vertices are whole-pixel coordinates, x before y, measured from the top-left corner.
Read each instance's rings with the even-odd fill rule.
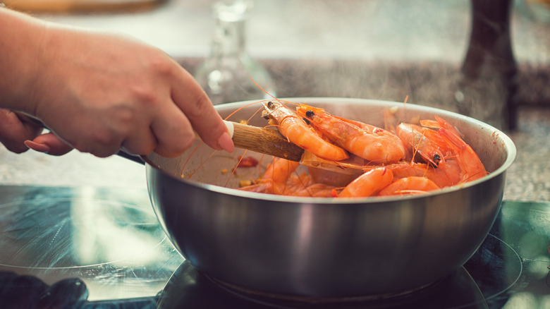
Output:
[[[390,169],[379,167],[355,178],[338,193],[338,198],[367,197],[376,195],[393,181]]]

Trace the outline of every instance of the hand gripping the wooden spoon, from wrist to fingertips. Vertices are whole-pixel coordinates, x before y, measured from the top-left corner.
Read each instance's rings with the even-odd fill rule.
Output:
[[[118,35],[45,29],[30,86],[18,98],[25,102],[21,110],[55,133],[51,138],[98,157],[121,147],[175,157],[193,143],[194,129],[210,147],[233,151],[207,95],[164,52]]]

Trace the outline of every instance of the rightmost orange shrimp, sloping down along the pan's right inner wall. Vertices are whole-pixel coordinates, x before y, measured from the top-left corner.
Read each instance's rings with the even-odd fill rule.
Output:
[[[440,128],[438,132],[453,150],[453,158],[460,166],[460,183],[474,181],[487,175],[485,166],[470,145],[446,128]]]

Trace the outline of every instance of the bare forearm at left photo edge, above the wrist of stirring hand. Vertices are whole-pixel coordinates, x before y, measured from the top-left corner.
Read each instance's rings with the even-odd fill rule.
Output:
[[[34,114],[28,91],[37,78],[46,28],[42,20],[0,8],[0,107]]]

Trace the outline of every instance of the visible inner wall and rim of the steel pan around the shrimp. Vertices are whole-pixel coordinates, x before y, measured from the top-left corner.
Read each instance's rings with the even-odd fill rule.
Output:
[[[515,158],[513,142],[504,133],[485,123],[450,111],[415,104],[367,99],[295,98],[285,99],[285,101],[322,107],[335,116],[362,121],[381,128],[384,128],[385,110],[391,111],[399,122],[418,123],[420,119],[434,119],[434,115],[441,116],[464,135],[465,142],[472,146],[489,171],[486,177],[501,174]],[[261,115],[262,104],[253,103],[255,102],[222,104],[216,106],[216,109],[227,120],[246,121],[251,126],[269,126],[267,120]],[[293,108],[292,104],[287,105]],[[257,159],[258,166],[235,169],[241,156]],[[241,149],[236,149],[231,154],[214,151],[199,140],[179,157],[167,159],[157,154],[150,154],[147,159],[152,166],[183,181],[207,183],[226,188],[238,188],[240,181],[258,178],[265,170],[265,166],[273,161],[273,157]],[[233,169],[235,169],[234,173]],[[298,171],[303,171],[305,167],[300,166],[300,169]]]

